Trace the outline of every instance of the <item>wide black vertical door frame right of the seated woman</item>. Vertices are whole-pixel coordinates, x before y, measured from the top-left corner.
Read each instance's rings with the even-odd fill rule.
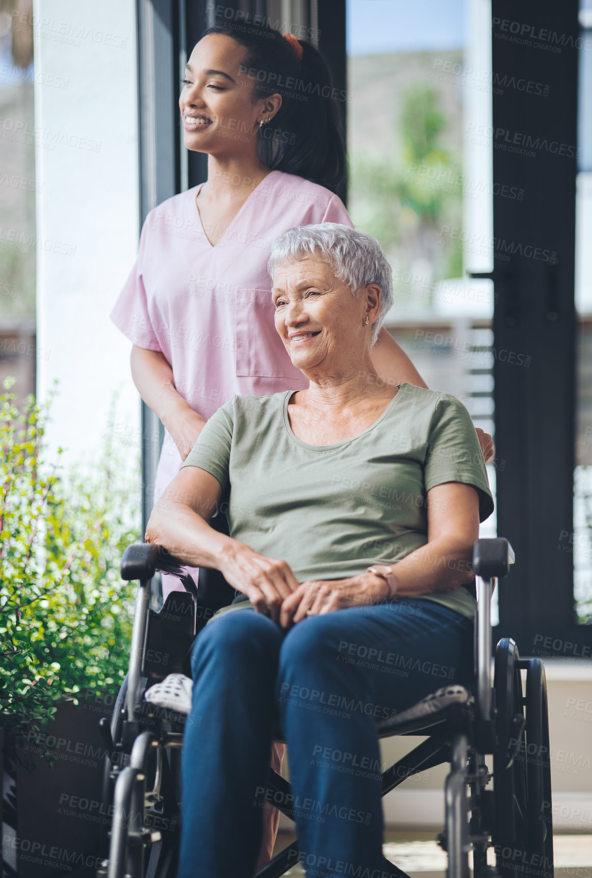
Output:
[[[494,199],[497,530],[516,551],[496,635],[550,657],[592,645],[569,551],[578,35],[577,0],[492,0],[494,187],[524,192]]]

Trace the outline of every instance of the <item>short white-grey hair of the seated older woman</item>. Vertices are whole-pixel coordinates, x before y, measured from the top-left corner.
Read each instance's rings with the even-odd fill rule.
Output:
[[[335,277],[350,287],[355,299],[368,284],[379,285],[382,297],[379,316],[372,324],[373,346],[386,313],[393,306],[393,272],[379,242],[372,234],[336,222],[289,228],[271,244],[267,263],[271,280],[286,260],[310,258],[328,263]]]

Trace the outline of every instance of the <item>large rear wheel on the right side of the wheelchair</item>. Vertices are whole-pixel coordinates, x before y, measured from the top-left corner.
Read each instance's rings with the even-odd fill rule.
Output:
[[[523,697],[521,670],[526,670]],[[508,878],[553,878],[551,767],[545,669],[521,661],[505,638],[495,652],[494,753],[497,871]],[[526,716],[524,716],[524,705]]]

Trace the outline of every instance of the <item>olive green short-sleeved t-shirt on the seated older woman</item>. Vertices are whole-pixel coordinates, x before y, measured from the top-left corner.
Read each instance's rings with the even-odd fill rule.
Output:
[[[443,482],[477,489],[480,522],[493,512],[473,421],[456,397],[404,384],[363,433],[308,445],[290,427],[292,394],[235,395],[206,422],[183,465],[220,482],[230,536],[282,558],[299,582],[356,576],[425,545],[426,495]],[[422,599],[473,618],[464,587]],[[246,595],[236,601],[251,606]],[[230,608],[236,602],[219,613]]]

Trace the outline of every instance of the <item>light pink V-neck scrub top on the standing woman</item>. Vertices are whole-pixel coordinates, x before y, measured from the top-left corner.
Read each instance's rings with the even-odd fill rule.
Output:
[[[110,316],[137,347],[162,353],[177,392],[207,420],[235,393],[307,388],[274,324],[266,267],[271,243],[296,226],[354,226],[333,192],[272,170],[212,246],[195,200],[201,186],[148,213],[134,268]],[[165,430],[155,500],[182,463]]]

